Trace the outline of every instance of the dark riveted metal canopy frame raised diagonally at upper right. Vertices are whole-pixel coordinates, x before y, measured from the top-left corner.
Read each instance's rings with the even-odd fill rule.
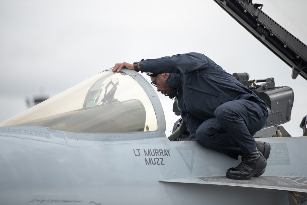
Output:
[[[262,44],[292,68],[292,78],[307,80],[307,46],[262,11],[252,0],[214,0]]]

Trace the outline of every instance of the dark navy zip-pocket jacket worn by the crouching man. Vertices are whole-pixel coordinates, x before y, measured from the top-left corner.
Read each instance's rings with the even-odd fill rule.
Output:
[[[195,140],[195,132],[202,122],[214,117],[218,106],[231,100],[252,100],[267,116],[265,103],[254,92],[204,54],[191,52],[147,59],[139,65],[141,72],[169,73],[165,83],[177,89],[167,96],[177,97],[190,140]]]

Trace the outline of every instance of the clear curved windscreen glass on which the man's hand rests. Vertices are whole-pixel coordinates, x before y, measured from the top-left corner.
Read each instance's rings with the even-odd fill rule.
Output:
[[[0,126],[42,126],[82,133],[129,133],[158,129],[153,105],[130,75],[111,70],[10,118]]]

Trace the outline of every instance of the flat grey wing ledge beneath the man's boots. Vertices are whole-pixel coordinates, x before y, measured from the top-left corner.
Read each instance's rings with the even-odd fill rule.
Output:
[[[307,193],[307,178],[291,176],[261,176],[250,180],[232,180],[225,176],[187,177],[161,182],[189,183],[189,184],[214,184],[223,186],[240,186],[249,188],[274,189],[284,191],[298,191]]]

